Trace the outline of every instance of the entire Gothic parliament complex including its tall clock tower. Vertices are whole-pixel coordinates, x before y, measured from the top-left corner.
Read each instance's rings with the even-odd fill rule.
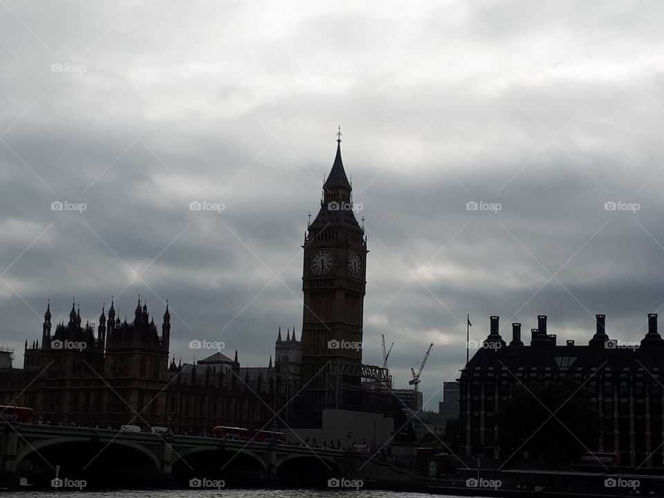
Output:
[[[111,300],[97,324],[84,324],[72,305],[68,322],[54,326],[47,304],[41,338],[26,340],[24,368],[0,368],[0,403],[32,407],[45,422],[188,434],[215,425],[320,428],[326,409],[389,416],[387,369],[362,365],[361,347],[331,347],[361,344],[368,252],[340,143],[338,133],[320,212],[302,244],[301,340],[295,329],[285,339],[279,330],[274,363],[270,357],[268,367],[243,368],[237,351],[232,359],[219,351],[195,364],[169,362],[168,304],[160,327],[140,298],[131,322],[116,316]]]

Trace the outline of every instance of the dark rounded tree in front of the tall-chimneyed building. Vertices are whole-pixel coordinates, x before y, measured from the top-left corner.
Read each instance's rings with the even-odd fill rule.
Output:
[[[601,418],[584,394],[572,380],[518,385],[498,415],[503,454],[562,463],[592,450]]]

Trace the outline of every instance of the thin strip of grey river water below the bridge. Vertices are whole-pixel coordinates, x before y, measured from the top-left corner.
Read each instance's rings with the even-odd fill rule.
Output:
[[[362,498],[446,498],[427,493],[360,490]],[[26,491],[2,493],[2,498],[357,498],[356,490],[117,490],[117,491]]]

